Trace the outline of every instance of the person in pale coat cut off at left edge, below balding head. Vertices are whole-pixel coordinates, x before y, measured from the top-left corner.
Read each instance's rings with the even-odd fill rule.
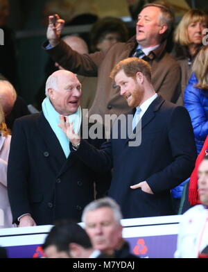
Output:
[[[13,226],[6,178],[10,139],[10,132],[4,122],[4,114],[0,104],[0,228],[12,228]]]

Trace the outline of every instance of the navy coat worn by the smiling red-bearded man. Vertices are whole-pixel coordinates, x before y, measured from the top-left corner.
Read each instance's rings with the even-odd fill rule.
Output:
[[[128,133],[122,139],[123,127],[118,126],[119,137],[111,137],[101,150],[82,139],[74,153],[94,171],[113,167],[109,196],[119,203],[124,218],[173,214],[171,189],[189,178],[196,160],[189,113],[158,96],[141,118],[141,144],[130,146]],[[153,194],[130,188],[142,181]]]

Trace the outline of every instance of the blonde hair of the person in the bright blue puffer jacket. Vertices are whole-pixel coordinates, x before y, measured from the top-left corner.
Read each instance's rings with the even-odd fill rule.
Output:
[[[193,62],[192,69],[198,79],[195,87],[208,90],[208,46],[202,46]]]

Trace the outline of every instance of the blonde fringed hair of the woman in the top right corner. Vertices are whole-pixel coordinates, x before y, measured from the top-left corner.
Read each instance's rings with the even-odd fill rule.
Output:
[[[205,22],[208,26],[207,14],[202,10],[192,9],[184,14],[180,23],[177,25],[174,33],[174,42],[187,46],[191,43],[189,40],[188,26],[196,22]]]

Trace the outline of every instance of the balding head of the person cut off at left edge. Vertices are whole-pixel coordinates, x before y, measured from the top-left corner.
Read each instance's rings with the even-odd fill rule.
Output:
[[[17,93],[12,84],[8,80],[0,80],[0,103],[5,116],[10,114],[16,99]]]

